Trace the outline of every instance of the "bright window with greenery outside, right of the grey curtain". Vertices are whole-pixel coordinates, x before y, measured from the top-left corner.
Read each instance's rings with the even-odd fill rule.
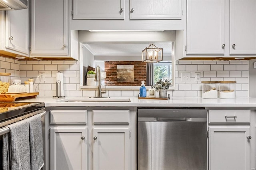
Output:
[[[154,63],[154,84],[159,79],[172,79],[172,62],[160,61]]]

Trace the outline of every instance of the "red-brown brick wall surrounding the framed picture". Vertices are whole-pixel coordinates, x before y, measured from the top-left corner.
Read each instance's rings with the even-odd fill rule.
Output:
[[[116,65],[134,65],[134,82],[117,82]],[[105,61],[105,71],[105,85],[137,86],[141,85],[141,81],[146,82],[146,63],[142,63],[141,61]]]

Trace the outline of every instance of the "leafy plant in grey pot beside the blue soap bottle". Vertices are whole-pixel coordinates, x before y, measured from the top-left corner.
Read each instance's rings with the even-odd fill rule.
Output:
[[[167,91],[169,89],[169,87],[172,87],[172,83],[170,83],[172,79],[170,79],[169,81],[167,79],[159,79],[158,82],[156,82],[156,84],[153,86],[154,88],[156,88],[156,91],[159,91],[159,97],[160,98],[166,98],[167,97]]]

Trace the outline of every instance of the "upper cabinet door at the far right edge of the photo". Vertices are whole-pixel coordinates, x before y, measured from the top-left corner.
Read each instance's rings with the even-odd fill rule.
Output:
[[[230,0],[230,54],[256,54],[255,0]]]

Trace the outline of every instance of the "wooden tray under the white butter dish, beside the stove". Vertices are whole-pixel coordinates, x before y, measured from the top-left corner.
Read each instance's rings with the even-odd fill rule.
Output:
[[[17,94],[0,94],[0,101],[18,101],[24,99],[33,99],[39,95],[39,92],[32,92],[32,93],[17,93]]]

